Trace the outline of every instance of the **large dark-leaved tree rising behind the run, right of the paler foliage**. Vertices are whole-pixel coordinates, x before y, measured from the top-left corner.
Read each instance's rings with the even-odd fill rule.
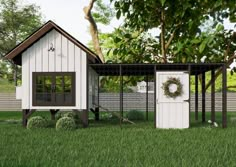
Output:
[[[236,56],[235,33],[224,31],[219,26],[226,18],[236,22],[234,1],[112,1],[117,18],[124,16],[126,28],[142,33],[153,28],[160,29],[156,38],[159,40],[159,62],[199,62],[202,56],[207,56],[207,61],[230,64]],[[215,32],[202,32],[200,26],[209,19],[214,22],[212,29]],[[149,46],[152,46],[151,43]],[[217,76],[220,73],[221,69],[217,71]],[[210,82],[207,88],[209,86]]]

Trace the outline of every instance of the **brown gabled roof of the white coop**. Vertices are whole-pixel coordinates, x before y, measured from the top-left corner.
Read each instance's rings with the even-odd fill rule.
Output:
[[[71,36],[68,32],[63,30],[61,27],[59,27],[57,24],[55,24],[53,21],[49,20],[47,23],[45,23],[42,27],[40,27],[38,30],[36,30],[32,35],[30,35],[28,38],[26,38],[23,42],[19,43],[16,47],[14,47],[11,51],[9,51],[5,58],[7,59],[18,59],[17,57],[21,56],[21,54],[29,48],[32,44],[37,42],[40,38],[42,38],[45,34],[47,34],[52,29],[57,30],[59,33],[64,35],[66,38],[68,38],[72,43],[74,43],[76,46],[81,48],[83,51],[88,53],[89,59],[91,59],[94,62],[102,63],[101,59],[89,48],[84,46],[81,42],[79,42],[77,39],[75,39],[73,36]]]

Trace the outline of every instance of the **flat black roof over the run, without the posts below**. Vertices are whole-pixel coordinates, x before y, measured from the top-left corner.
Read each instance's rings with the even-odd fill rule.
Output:
[[[154,75],[156,71],[186,71],[198,75],[223,67],[224,63],[167,63],[167,64],[90,64],[101,76]]]

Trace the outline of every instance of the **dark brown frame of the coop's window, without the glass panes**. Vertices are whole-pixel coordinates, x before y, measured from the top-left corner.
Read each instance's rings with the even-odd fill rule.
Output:
[[[76,77],[75,77],[75,72],[33,72],[33,81],[32,81],[32,94],[33,94],[33,106],[75,106],[75,102],[76,102],[76,86],[75,86],[75,81],[76,81]],[[38,76],[50,76],[52,77],[52,83],[51,83],[51,87],[53,87],[51,89],[51,101],[50,102],[39,102],[36,98],[36,89],[37,89],[37,83],[36,83],[36,79]],[[64,102],[64,103],[57,103],[56,101],[56,92],[55,92],[55,87],[56,87],[56,76],[71,76],[71,102]],[[62,86],[63,86],[63,94],[65,96],[65,82],[63,79],[62,82]],[[43,94],[43,93],[42,93]],[[45,93],[46,94],[46,93]]]

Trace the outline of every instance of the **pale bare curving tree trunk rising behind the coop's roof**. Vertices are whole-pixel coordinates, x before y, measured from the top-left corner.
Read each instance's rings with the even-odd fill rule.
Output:
[[[85,14],[85,19],[89,21],[90,23],[90,34],[92,36],[92,41],[93,41],[93,46],[95,49],[95,52],[98,54],[99,58],[101,59],[102,62],[104,62],[104,55],[102,53],[102,49],[100,47],[100,42],[98,38],[98,29],[97,29],[97,24],[93,19],[93,16],[91,14],[93,4],[96,0],[90,0],[89,5],[84,7],[84,14]]]

